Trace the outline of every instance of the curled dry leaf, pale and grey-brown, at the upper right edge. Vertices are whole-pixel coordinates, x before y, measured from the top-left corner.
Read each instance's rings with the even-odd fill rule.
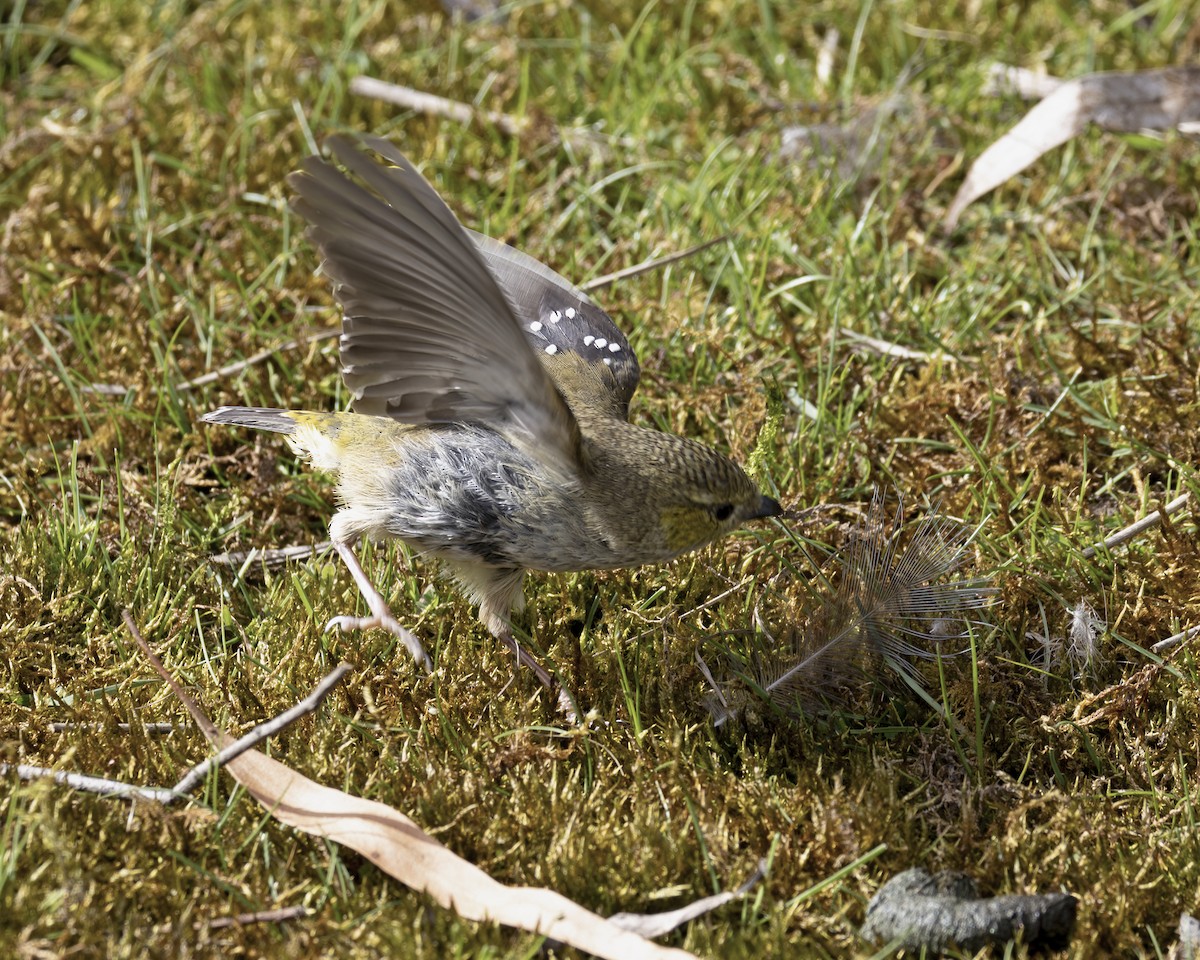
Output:
[[[1088,124],[1104,130],[1170,130],[1200,120],[1200,68],[1092,73],[1066,80],[971,166],[946,211],[953,230],[962,211]]]

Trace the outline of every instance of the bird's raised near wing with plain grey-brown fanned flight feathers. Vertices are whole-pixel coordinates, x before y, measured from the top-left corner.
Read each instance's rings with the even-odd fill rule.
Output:
[[[391,166],[332,137],[361,184],[319,157],[288,178],[342,305],[342,376],[355,410],[486,424],[572,468],[575,418],[475,244],[395,146],[362,143]]]

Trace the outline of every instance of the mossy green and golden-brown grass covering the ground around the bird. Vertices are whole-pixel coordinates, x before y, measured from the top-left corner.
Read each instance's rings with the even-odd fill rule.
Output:
[[[1165,950],[1198,906],[1200,702],[1192,648],[1148,650],[1200,622],[1195,522],[1080,551],[1200,493],[1194,144],[1090,131],[953,236],[937,224],[1025,109],[983,96],[990,61],[1061,76],[1190,62],[1194,10],[524,4],[506,26],[382,0],[0,10],[0,761],[170,784],[205,754],[125,634],[128,607],[234,731],[353,661],[271,751],[397,806],[505,883],[601,913],[662,910],[736,886],[770,852],[745,901],[670,938],[700,954],[869,955],[865,904],[913,865],[967,870],[989,893],[1075,893],[1073,956]],[[352,96],[359,73],[530,125],[514,138],[414,116]],[[782,126],[853,120],[905,73],[908,104],[862,176],[775,161]],[[336,326],[283,178],[338,130],[392,138],[464,223],[577,282],[732,236],[599,295],[642,358],[634,415],[745,461],[778,384],[766,482],[822,509],[670,568],[534,577],[518,626],[599,708],[583,734],[547,732],[534,682],[512,679],[470,607],[395,547],[365,562],[434,677],[389,636],[322,632],[359,607],[334,560],[265,578],[210,562],[324,536],[324,478],[276,439],[196,422],[221,403],[344,406],[335,342],[186,384]],[[840,331],[932,359],[889,360]],[[799,538],[845,542],[877,485],[911,514],[940,502],[983,524],[968,572],[1000,598],[972,655],[926,670],[947,718],[866,692],[809,721],[714,731],[697,646],[751,626],[768,594],[805,595]],[[1076,677],[1031,634],[1062,636],[1081,599],[1109,629]],[[146,720],[179,730],[116,727]],[[298,904],[312,916],[209,926]],[[228,776],[186,810],[131,815],[16,780],[0,797],[5,955],[538,946],[280,827]]]

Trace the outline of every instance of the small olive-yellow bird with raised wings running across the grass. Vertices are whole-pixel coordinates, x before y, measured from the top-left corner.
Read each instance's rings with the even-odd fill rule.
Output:
[[[288,184],[343,310],[354,412],[221,407],[202,419],[286,434],[337,475],[330,539],[371,616],[326,629],[382,626],[430,668],[353,551],[359,538],[396,538],[440,560],[553,689],[512,637],[527,570],[662,563],[780,505],[718,451],[629,422],[637,359],[583,293],[463,228],[389,142],[328,146],[353,178],[310,157]]]

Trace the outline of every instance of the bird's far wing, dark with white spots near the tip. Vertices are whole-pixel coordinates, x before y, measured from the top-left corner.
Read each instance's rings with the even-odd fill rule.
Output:
[[[604,364],[612,371],[617,400],[628,408],[641,370],[612,318],[544,263],[490,236],[468,233],[534,348],[576,353],[589,364]]]

